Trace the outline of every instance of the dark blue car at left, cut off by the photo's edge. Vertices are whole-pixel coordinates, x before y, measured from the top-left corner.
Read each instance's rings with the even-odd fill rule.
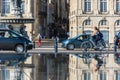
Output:
[[[1,50],[15,50],[18,53],[22,53],[25,49],[30,50],[33,48],[33,43],[29,39],[13,30],[0,29],[0,35]]]

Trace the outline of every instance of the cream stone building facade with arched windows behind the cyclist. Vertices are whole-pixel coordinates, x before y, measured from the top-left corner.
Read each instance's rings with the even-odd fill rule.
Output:
[[[120,30],[119,0],[70,0],[71,36],[91,33],[97,26],[104,39],[113,43],[115,32]]]

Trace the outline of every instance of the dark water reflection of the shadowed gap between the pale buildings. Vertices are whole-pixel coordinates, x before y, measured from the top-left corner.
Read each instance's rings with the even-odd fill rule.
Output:
[[[68,80],[68,56],[34,55],[34,80]]]

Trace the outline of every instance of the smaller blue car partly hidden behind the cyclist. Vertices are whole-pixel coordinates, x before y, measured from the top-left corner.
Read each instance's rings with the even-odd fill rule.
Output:
[[[62,42],[62,47],[68,50],[73,50],[74,48],[80,48],[81,43],[90,39],[89,34],[80,34],[70,39],[66,39]]]

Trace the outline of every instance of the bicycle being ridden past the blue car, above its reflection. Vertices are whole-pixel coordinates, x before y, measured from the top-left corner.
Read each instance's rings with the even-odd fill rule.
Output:
[[[94,48],[96,46],[97,46],[97,48]],[[104,41],[104,39],[100,39],[99,41],[97,41],[97,45],[95,45],[93,39],[90,38],[89,40],[84,41],[81,44],[81,48],[84,51],[91,50],[91,49],[94,49],[94,50],[103,50],[104,48],[109,48],[109,43],[106,42],[106,41]]]

